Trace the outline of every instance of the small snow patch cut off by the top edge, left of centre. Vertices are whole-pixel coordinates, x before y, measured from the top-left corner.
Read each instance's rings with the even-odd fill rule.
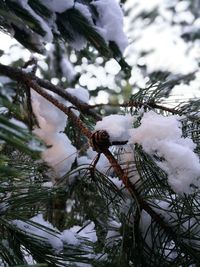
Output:
[[[74,5],[74,0],[40,0],[52,12],[62,13]]]

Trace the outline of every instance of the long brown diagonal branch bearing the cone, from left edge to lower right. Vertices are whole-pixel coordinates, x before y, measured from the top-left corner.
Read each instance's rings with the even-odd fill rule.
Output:
[[[76,127],[80,129],[81,133],[84,136],[86,136],[89,140],[92,138],[91,131],[84,125],[84,123],[80,120],[80,118],[77,117],[71,111],[70,108],[66,107],[65,105],[60,103],[57,99],[55,99],[54,97],[49,95],[46,91],[44,91],[44,89],[42,89],[38,85],[38,83],[33,79],[33,77],[31,77],[30,75],[24,73],[23,71],[19,69],[7,67],[2,64],[0,64],[0,73],[14,80],[20,81],[21,83],[24,83],[25,85],[31,87],[38,94],[46,98],[49,102],[51,102],[57,108],[62,110],[67,116],[69,116],[73,120]],[[138,209],[145,210],[151,216],[152,220],[156,222],[156,224],[159,225],[161,229],[163,229],[170,236],[170,238],[174,241],[177,247],[181,248],[181,250],[186,255],[192,256],[197,262],[199,262],[200,258],[197,255],[197,253],[195,253],[195,249],[192,249],[186,244],[184,244],[183,242],[181,242],[178,234],[172,228],[172,226],[169,225],[167,222],[165,222],[165,220],[151,207],[151,205],[139,195],[135,186],[129,181],[126,172],[121,168],[121,166],[119,165],[117,160],[114,158],[112,153],[108,150],[107,144],[106,144],[106,147],[103,146],[102,150],[100,146],[98,146],[97,152],[103,153],[105,157],[109,160],[116,174],[123,181],[126,189],[129,191],[131,196],[135,199],[138,205]]]

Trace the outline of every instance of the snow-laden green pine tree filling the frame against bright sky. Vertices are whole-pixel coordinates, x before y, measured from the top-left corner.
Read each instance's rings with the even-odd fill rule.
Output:
[[[0,30],[31,54],[0,63],[0,265],[199,266],[199,99],[166,104],[197,74],[139,64],[132,91],[116,0],[4,0]],[[115,60],[120,94],[81,87],[84,60]]]

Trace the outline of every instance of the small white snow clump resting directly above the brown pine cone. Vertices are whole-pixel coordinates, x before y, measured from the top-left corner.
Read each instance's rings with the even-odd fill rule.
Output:
[[[109,115],[98,121],[95,130],[105,130],[110,136],[110,141],[126,141],[129,139],[128,130],[132,128],[131,115]]]

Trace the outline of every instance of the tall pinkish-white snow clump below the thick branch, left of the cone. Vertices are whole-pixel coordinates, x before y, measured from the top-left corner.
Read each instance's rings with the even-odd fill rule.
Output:
[[[50,146],[42,152],[42,158],[52,167],[55,175],[61,177],[71,169],[77,152],[69,138],[62,133],[67,116],[39,94],[34,91],[31,94],[33,111],[40,126],[34,133]]]

